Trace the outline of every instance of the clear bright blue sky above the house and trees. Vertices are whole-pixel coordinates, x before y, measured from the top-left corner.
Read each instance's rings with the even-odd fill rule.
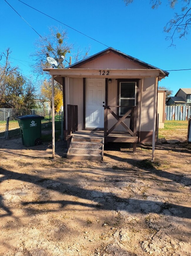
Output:
[[[48,34],[51,26],[61,27],[60,23],[18,0],[7,1],[42,36]],[[176,48],[168,47],[170,42],[165,40],[167,34],[163,27],[180,7],[170,9],[167,0],[154,10],[150,0],[134,0],[128,7],[123,0],[23,1],[105,45],[160,69],[191,68],[191,33],[185,39],[175,40]],[[0,3],[0,17],[0,52],[10,47],[13,65],[18,65],[22,74],[30,76],[30,54],[35,51],[34,43],[39,36],[4,0]],[[62,28],[68,32],[69,43],[90,47],[89,56],[107,48],[68,27],[62,25]],[[190,76],[191,70],[171,71],[159,86],[170,87],[174,95],[179,88],[191,88]]]

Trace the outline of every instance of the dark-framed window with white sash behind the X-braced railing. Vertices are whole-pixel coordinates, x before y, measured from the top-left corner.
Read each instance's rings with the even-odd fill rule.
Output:
[[[119,79],[118,80],[118,105],[124,106],[124,107],[119,108],[118,115],[123,116],[128,110],[131,109],[131,107],[136,106],[137,99],[138,99],[138,79],[132,79],[132,80]]]

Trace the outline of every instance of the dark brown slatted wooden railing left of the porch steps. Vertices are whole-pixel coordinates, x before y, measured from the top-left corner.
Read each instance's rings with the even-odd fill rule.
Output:
[[[78,131],[78,106],[67,105],[68,135]]]

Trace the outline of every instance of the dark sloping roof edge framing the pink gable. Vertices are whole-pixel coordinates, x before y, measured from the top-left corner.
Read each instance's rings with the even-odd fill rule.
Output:
[[[112,52],[112,53],[115,53],[115,54],[117,54],[119,56],[122,56],[123,58],[126,58],[126,59],[128,59],[130,61],[133,61],[133,62],[135,62],[135,63],[137,63],[137,64],[139,64],[141,66],[146,67],[147,69],[159,69],[159,68],[157,68],[155,66],[152,66],[152,65],[150,65],[150,64],[148,64],[148,63],[146,63],[144,61],[140,61],[137,58],[134,58],[134,57],[132,57],[130,55],[122,53],[121,51],[115,50],[112,47],[109,47],[109,48],[107,48],[107,49],[105,49],[105,50],[103,50],[103,51],[101,51],[99,53],[96,53],[96,54],[90,56],[90,57],[87,57],[87,58],[83,59],[82,61],[78,61],[78,62],[76,62],[76,63],[66,67],[66,69],[69,69],[69,68],[75,69],[75,68],[77,68],[77,67],[79,67],[79,66],[81,66],[81,65],[83,65],[83,64],[85,64],[85,63],[87,63],[89,61],[92,61],[92,60],[94,60],[94,59],[96,59],[96,58],[98,58],[100,56],[103,56],[104,54],[109,53],[109,52]],[[169,75],[169,72],[164,71],[164,70],[162,70],[162,71],[165,73],[165,76]]]

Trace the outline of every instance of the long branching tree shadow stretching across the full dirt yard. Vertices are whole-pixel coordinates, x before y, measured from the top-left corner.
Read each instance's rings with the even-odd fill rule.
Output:
[[[18,172],[9,171],[6,169],[0,169],[1,175],[4,175],[3,179],[8,177],[9,179],[19,180],[24,182],[30,182],[35,184],[43,189],[61,193],[63,195],[63,200],[36,200],[28,201],[23,203],[23,205],[35,205],[35,204],[60,204],[62,208],[69,205],[78,205],[79,202],[66,200],[65,196],[75,196],[85,200],[91,200],[93,203],[80,203],[81,206],[93,207],[109,211],[123,211],[126,213],[158,213],[170,216],[179,216],[181,218],[191,218],[191,208],[186,206],[180,206],[177,204],[171,203],[162,203],[161,201],[152,201],[152,200],[140,200],[137,198],[121,198],[116,196],[114,193],[106,193],[98,190],[90,190],[86,188],[79,187],[75,185],[76,179],[70,182],[59,181],[52,179],[42,179],[38,176],[33,176],[29,174],[23,174]],[[151,172],[153,173],[153,172]],[[58,184],[59,183],[59,184]],[[4,205],[3,198],[1,200],[1,207],[8,215],[12,215],[10,209]],[[26,208],[28,214],[34,214],[34,211],[31,211],[31,208]],[[38,210],[37,213],[43,212],[43,210]],[[54,211],[46,209],[46,211]],[[2,217],[2,216],[1,216]]]

